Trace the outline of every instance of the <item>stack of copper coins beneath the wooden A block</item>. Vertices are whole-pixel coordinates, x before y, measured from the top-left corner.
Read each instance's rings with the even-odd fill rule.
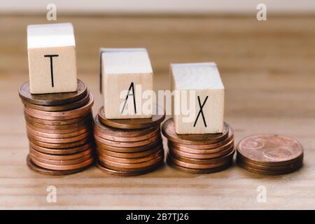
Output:
[[[160,123],[165,113],[146,119],[106,119],[104,109],[94,119],[97,167],[118,176],[151,172],[164,162]]]

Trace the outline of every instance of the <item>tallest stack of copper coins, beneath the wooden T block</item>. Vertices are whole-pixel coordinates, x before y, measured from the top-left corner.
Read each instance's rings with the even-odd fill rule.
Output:
[[[76,92],[52,94],[31,94],[27,82],[19,94],[25,105],[31,169],[48,175],[73,174],[93,162],[93,97],[82,81],[78,80]]]

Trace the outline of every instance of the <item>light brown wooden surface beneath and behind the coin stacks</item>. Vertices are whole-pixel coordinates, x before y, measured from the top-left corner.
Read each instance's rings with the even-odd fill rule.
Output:
[[[18,87],[28,79],[29,24],[45,16],[0,17],[1,209],[315,209],[315,17],[78,17],[78,78],[99,94],[99,47],[145,47],[155,90],[169,88],[170,62],[214,61],[225,85],[225,121],[235,140],[249,134],[285,134],[304,146],[304,166],[283,176],[260,176],[233,165],[216,174],[178,172],[165,165],[121,178],[92,167],[70,176],[28,169],[28,140]],[[165,139],[164,139],[165,140]],[[165,148],[167,150],[167,148]],[[57,188],[57,202],[46,188]],[[267,202],[258,203],[258,186]]]

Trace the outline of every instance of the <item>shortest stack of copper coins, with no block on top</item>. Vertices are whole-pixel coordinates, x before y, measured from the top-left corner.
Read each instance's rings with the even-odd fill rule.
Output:
[[[303,146],[278,134],[257,134],[237,145],[237,164],[256,174],[288,174],[302,167]]]

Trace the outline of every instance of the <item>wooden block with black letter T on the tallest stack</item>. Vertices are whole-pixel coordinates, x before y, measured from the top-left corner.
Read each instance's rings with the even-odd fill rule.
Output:
[[[71,23],[27,27],[31,93],[73,92],[76,78],[76,43]]]

